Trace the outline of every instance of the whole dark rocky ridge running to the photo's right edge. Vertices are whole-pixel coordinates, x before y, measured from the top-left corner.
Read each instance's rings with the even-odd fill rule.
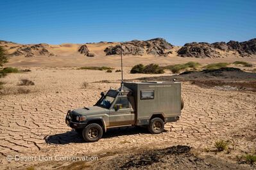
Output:
[[[194,58],[220,58],[222,57],[218,50],[229,52],[233,50],[238,52],[241,57],[252,56],[256,54],[256,38],[246,42],[215,42],[215,43],[185,43],[178,50],[178,56]]]

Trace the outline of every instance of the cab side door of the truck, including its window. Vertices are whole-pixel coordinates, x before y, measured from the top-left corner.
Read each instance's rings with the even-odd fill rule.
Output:
[[[115,103],[109,113],[110,127],[134,125],[134,123],[135,114],[128,98],[126,96],[117,97],[117,100],[115,100]]]

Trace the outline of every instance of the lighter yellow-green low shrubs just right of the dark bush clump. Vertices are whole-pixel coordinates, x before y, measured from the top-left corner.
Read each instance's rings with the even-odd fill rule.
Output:
[[[185,64],[165,66],[164,68],[171,70],[171,72],[173,72],[173,73],[180,73],[180,70],[185,70],[187,68],[195,69],[195,68],[198,68],[198,66],[201,66],[200,63],[190,61]]]

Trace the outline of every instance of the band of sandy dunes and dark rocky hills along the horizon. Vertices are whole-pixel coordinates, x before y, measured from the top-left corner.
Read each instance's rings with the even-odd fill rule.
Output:
[[[24,56],[32,58],[35,56],[113,56],[121,53],[121,45],[118,42],[99,42],[62,45],[19,44],[0,40],[0,46],[8,50],[10,56]],[[175,47],[163,38],[151,40],[132,40],[122,43],[124,56],[180,56],[191,58],[225,58],[228,56],[255,57],[256,38],[245,42],[192,42],[185,43],[182,47]]]

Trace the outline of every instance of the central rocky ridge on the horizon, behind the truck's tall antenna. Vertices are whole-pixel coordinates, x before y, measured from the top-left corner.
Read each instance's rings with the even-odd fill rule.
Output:
[[[166,50],[170,49],[173,49],[173,45],[166,42],[166,40],[163,38],[155,38],[146,41],[132,40],[131,42],[122,43],[122,52],[124,55],[142,56],[144,54],[144,50],[146,50],[147,54],[152,54],[155,56],[167,56],[171,52],[166,52]],[[107,56],[120,54],[121,46],[110,46],[104,51],[106,52]]]

